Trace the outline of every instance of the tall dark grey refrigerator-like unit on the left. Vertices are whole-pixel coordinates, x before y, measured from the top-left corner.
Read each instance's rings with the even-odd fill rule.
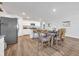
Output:
[[[7,44],[16,43],[17,19],[1,17],[1,35],[5,35]]]

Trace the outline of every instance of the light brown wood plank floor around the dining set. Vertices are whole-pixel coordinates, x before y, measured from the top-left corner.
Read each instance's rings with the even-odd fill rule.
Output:
[[[22,36],[16,44],[8,45],[5,56],[79,56],[79,40],[66,38],[63,45],[41,49],[37,40]]]

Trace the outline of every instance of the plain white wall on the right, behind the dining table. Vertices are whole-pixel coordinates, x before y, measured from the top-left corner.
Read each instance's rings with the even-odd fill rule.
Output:
[[[71,21],[71,26],[66,27],[66,36],[79,38],[79,15],[73,15],[66,17],[66,19],[57,19],[52,22],[52,26],[61,28],[63,21]]]

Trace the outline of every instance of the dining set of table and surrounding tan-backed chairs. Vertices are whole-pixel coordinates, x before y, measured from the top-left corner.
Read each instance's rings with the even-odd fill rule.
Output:
[[[54,28],[52,31],[48,31],[46,29],[33,29],[33,33],[38,34],[37,37],[33,38],[38,41],[38,47],[45,49],[47,47],[53,48],[54,46],[63,45],[66,29],[60,28],[56,30],[56,28]]]

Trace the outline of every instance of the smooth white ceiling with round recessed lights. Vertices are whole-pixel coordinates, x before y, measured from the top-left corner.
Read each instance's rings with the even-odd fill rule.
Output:
[[[3,7],[9,14],[23,16],[26,13],[32,20],[61,19],[79,14],[79,2],[4,2]],[[53,12],[53,9],[56,12]]]

